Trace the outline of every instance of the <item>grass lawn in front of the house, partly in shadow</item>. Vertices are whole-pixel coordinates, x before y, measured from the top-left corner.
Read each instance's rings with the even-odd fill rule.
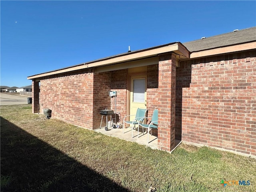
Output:
[[[46,120],[31,106],[1,106],[3,192],[255,192],[255,185],[254,158],[185,144],[170,154]]]

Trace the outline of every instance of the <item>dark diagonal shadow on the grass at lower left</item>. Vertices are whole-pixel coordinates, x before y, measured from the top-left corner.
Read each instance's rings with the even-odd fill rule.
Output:
[[[3,192],[129,191],[1,117],[2,178]]]

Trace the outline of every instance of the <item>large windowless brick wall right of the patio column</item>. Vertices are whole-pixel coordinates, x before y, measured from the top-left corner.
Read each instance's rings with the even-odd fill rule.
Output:
[[[182,140],[256,156],[256,51],[181,62],[177,84]]]

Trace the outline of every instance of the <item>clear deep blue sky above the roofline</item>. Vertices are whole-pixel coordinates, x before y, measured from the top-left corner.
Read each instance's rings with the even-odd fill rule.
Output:
[[[131,50],[256,26],[256,1],[0,1],[1,86]]]

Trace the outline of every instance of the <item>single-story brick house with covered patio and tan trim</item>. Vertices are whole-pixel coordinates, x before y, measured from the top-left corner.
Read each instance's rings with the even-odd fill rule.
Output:
[[[256,27],[173,42],[29,76],[32,112],[96,129],[100,110],[120,118],[158,109],[158,148],[176,140],[256,156]],[[144,90],[144,91],[143,91]],[[144,98],[144,99],[143,99]],[[146,100],[146,101],[144,101]],[[146,106],[145,106],[146,104]]]

